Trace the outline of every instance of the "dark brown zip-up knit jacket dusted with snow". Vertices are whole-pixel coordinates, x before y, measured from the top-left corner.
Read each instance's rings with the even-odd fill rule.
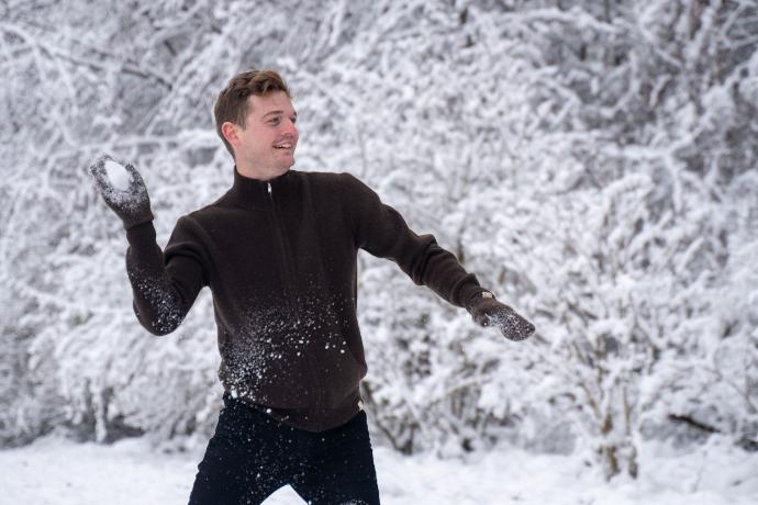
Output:
[[[179,218],[161,251],[153,223],[127,231],[140,323],[175,330],[208,285],[225,390],[290,426],[321,431],[360,408],[366,359],[356,317],[358,249],[464,306],[484,291],[432,235],[416,235],[349,173],[260,181],[234,170],[216,202]]]

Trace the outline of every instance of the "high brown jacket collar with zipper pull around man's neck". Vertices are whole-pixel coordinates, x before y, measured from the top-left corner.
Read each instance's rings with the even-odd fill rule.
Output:
[[[298,194],[297,170],[287,170],[279,177],[267,181],[245,177],[234,167],[234,184],[226,193],[228,201],[250,210],[286,210]]]

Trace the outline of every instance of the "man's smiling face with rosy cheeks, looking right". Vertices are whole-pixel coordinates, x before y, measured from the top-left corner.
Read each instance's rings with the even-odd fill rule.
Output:
[[[298,145],[298,113],[283,91],[247,98],[245,127],[235,125],[232,142],[239,173],[256,179],[271,179],[287,172],[294,164]]]

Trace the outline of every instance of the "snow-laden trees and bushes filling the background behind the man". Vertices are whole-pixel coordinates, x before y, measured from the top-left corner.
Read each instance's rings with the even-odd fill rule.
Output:
[[[164,246],[232,161],[212,105],[274,68],[296,168],[349,171],[537,326],[364,252],[376,445],[509,441],[636,475],[646,440],[758,450],[755,0],[0,2],[0,442],[181,447],[220,406],[210,292],[156,338],[86,167],[142,171]]]

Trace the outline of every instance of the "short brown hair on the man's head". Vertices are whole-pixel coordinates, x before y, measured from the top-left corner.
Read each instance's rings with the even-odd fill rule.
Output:
[[[234,158],[232,145],[224,138],[221,125],[231,122],[245,127],[245,116],[247,116],[247,98],[250,94],[265,97],[277,91],[283,91],[289,99],[292,99],[290,90],[285,79],[276,70],[248,70],[237,74],[228,80],[226,88],[221,90],[215,100],[213,114],[215,115],[215,132],[219,134],[226,150]]]

